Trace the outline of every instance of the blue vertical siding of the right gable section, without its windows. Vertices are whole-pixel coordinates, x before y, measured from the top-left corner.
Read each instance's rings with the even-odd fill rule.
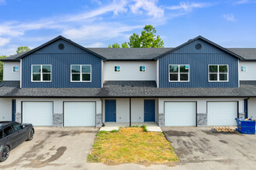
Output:
[[[202,49],[195,49],[197,43]],[[169,82],[169,64],[189,64],[189,82]],[[227,64],[229,81],[209,82],[209,64]],[[238,59],[197,39],[159,59],[159,87],[238,87]]]

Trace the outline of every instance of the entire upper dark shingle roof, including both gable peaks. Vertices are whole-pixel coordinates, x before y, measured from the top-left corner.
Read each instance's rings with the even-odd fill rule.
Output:
[[[209,44],[216,46],[226,53],[230,53],[230,55],[237,57],[238,59],[247,60],[247,61],[256,61],[256,48],[223,48],[222,46],[217,45],[214,42],[209,41],[202,36],[197,36],[195,39],[190,39],[188,42],[183,43],[181,46],[175,48],[85,48],[83,46],[78,45],[75,42],[72,42],[70,39],[66,39],[63,36],[57,36],[55,39],[46,42],[42,46],[37,47],[36,49],[32,49],[23,53],[15,54],[12,56],[8,56],[5,59],[1,59],[1,61],[19,61],[19,59],[28,56],[31,53],[34,53],[36,50],[42,49],[44,46],[49,45],[52,42],[57,41],[58,39],[64,39],[74,46],[78,46],[89,53],[94,54],[95,56],[99,56],[104,60],[157,60],[162,56],[175,51],[176,49],[182,48],[196,39],[202,39]]]

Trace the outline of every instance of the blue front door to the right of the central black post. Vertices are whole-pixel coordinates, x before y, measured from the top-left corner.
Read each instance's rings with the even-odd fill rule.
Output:
[[[144,121],[154,121],[154,100],[144,100]]]

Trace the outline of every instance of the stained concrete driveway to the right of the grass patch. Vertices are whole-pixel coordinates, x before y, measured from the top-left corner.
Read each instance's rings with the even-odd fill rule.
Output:
[[[217,134],[211,128],[162,128],[183,169],[256,169],[256,135]]]

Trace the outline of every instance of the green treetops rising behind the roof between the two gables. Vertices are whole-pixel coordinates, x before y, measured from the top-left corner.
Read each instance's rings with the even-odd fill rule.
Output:
[[[157,48],[164,47],[164,42],[159,35],[156,35],[157,30],[151,26],[144,26],[140,34],[133,33],[130,36],[129,42],[124,42],[122,48]],[[120,48],[119,43],[109,45],[109,48]]]

